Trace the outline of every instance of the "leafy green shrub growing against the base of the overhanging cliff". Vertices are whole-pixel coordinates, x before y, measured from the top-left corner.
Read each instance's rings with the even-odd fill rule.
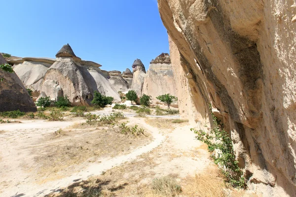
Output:
[[[196,139],[208,145],[210,152],[218,150],[218,157],[214,156],[215,164],[223,166],[222,172],[225,175],[226,181],[233,187],[246,188],[246,180],[243,171],[238,166],[238,161],[235,159],[232,140],[229,134],[224,131],[223,124],[212,112],[212,105],[209,104],[210,112],[212,114],[214,128],[209,132],[203,130],[195,130],[197,134]]]

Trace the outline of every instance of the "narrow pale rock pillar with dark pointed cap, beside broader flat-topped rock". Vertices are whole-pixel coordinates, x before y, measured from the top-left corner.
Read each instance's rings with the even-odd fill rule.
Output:
[[[139,59],[135,60],[134,64],[132,65],[132,68],[134,75],[131,89],[136,91],[138,97],[141,97],[146,69],[141,60]]]

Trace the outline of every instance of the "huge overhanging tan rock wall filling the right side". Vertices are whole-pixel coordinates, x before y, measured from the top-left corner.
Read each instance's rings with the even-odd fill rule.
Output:
[[[212,103],[251,189],[296,196],[295,1],[158,0],[158,6],[198,120],[210,119]],[[173,67],[178,73],[180,64]]]

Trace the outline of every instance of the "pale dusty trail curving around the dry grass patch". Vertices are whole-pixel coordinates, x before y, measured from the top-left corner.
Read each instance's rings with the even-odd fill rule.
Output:
[[[58,190],[60,187],[66,187],[75,181],[87,179],[93,175],[99,175],[102,171],[106,171],[116,165],[129,162],[137,158],[137,156],[151,151],[163,142],[164,136],[155,130],[155,128],[147,125],[143,119],[129,117],[130,122],[144,127],[153,136],[153,141],[146,146],[136,148],[128,155],[121,155],[114,158],[100,159],[101,163],[93,163],[88,166],[81,167],[79,172],[73,173],[71,176],[59,180],[49,181],[44,184],[37,184],[30,175],[30,172],[23,171],[21,165],[23,158],[26,160],[34,160],[35,155],[30,155],[29,147],[32,145],[30,141],[42,137],[46,133],[51,133],[59,129],[66,128],[76,122],[44,122],[44,121],[22,121],[22,124],[4,124],[0,130],[8,131],[0,134],[3,139],[0,144],[1,158],[0,169],[1,188],[0,196],[24,196],[39,197],[44,196],[52,191]],[[81,121],[80,121],[81,122]],[[26,124],[24,124],[26,123]],[[10,131],[10,132],[9,132]],[[17,132],[17,134],[16,134]],[[20,147],[21,145],[21,147]],[[33,164],[33,162],[32,162]],[[5,169],[5,170],[4,170]]]

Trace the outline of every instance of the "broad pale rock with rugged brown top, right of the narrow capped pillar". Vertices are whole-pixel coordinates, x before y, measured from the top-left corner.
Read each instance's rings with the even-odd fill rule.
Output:
[[[169,54],[162,53],[150,62],[144,77],[142,94],[151,96],[152,102],[157,101],[156,97],[159,95],[171,94],[177,96],[177,87]]]

